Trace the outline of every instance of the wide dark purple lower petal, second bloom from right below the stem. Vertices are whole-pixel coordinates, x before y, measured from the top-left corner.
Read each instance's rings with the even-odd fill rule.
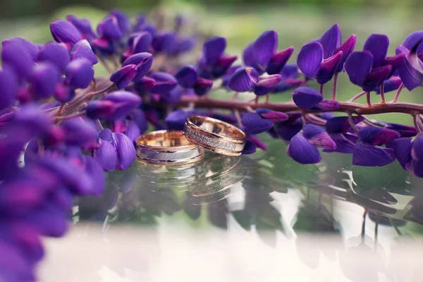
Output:
[[[395,161],[393,149],[382,149],[364,142],[358,142],[353,152],[355,166],[386,166]]]

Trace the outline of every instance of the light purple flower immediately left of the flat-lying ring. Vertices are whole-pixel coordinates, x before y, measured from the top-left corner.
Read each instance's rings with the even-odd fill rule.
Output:
[[[99,137],[100,147],[94,151],[94,158],[106,171],[114,168],[125,170],[133,164],[137,153],[128,136],[123,133],[112,133],[107,128],[100,131]]]

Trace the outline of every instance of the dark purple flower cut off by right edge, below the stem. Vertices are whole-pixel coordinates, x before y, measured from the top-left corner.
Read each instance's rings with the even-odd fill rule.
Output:
[[[402,137],[393,140],[398,162],[405,170],[411,170],[415,176],[423,177],[423,137]]]

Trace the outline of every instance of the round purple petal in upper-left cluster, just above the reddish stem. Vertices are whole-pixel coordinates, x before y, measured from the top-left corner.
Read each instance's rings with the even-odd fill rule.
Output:
[[[65,71],[66,81],[74,89],[87,88],[94,78],[94,69],[87,59],[71,61]]]

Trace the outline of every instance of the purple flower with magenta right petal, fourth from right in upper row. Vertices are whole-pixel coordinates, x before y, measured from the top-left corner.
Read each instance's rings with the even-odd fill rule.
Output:
[[[277,48],[278,34],[274,30],[265,31],[244,50],[244,63],[260,74],[264,71],[269,75],[278,74],[293,54],[294,47],[276,53]]]

